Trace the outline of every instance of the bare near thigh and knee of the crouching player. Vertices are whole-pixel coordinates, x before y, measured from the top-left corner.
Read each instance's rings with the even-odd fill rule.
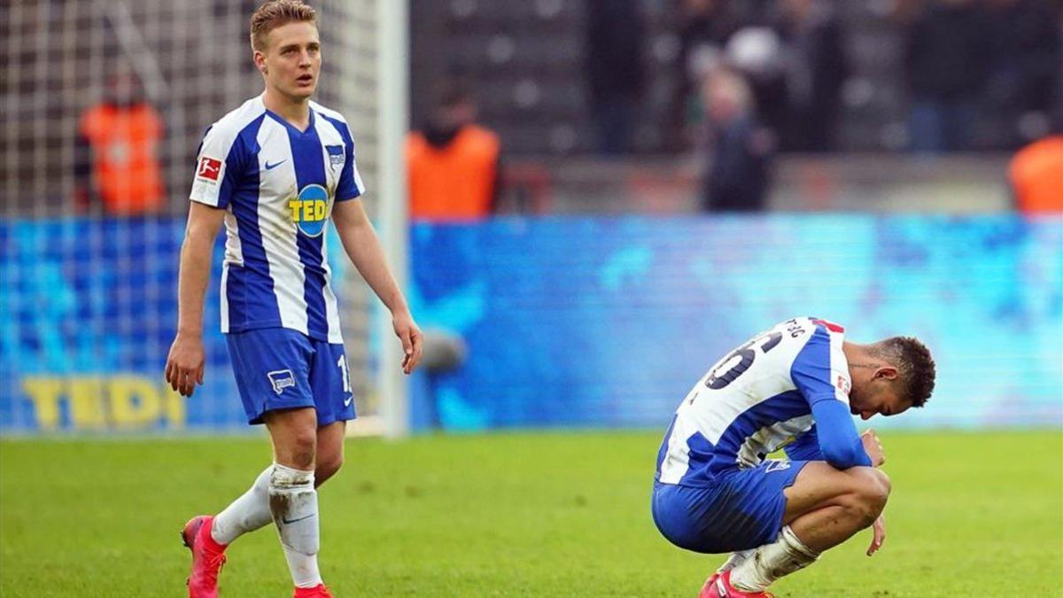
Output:
[[[879,469],[836,469],[824,461],[810,461],[802,468],[793,484],[783,491],[787,509],[782,520],[789,524],[806,513],[843,504],[854,497],[859,499],[880,493],[883,486],[889,492],[889,479]]]

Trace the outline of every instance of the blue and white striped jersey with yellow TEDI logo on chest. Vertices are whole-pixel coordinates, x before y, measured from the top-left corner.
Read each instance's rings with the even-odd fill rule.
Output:
[[[324,232],[333,202],[364,190],[337,112],[310,102],[310,124],[300,131],[259,96],[215,122],[190,197],[229,211],[221,331],[288,328],[342,343]]]

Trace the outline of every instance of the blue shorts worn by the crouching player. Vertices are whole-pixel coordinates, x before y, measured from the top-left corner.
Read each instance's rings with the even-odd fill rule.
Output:
[[[806,463],[767,460],[720,474],[708,487],[654,482],[654,522],[669,542],[695,552],[732,552],[775,542],[787,509],[782,491]]]

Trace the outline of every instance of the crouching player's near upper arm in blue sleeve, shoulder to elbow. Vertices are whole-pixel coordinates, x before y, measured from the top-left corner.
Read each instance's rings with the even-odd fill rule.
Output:
[[[871,467],[872,460],[849,414],[848,396],[833,383],[844,364],[844,355],[832,354],[830,336],[821,325],[797,353],[790,376],[812,409],[824,461],[838,469]]]

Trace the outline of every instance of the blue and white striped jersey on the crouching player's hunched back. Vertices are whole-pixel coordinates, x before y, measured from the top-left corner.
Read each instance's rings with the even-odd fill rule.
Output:
[[[709,485],[719,472],[756,467],[766,454],[803,435],[814,439],[819,433],[821,442],[824,436],[841,438],[847,447],[854,439],[859,443],[848,415],[851,379],[842,352],[843,336],[838,325],[794,318],[754,336],[718,362],[676,410],[657,455],[657,480]],[[821,401],[841,404],[813,409]],[[816,425],[813,411],[837,413],[840,406],[844,406],[841,418]],[[825,425],[836,430],[824,429]],[[812,454],[824,459],[812,445]],[[866,459],[856,447],[858,459]]]

